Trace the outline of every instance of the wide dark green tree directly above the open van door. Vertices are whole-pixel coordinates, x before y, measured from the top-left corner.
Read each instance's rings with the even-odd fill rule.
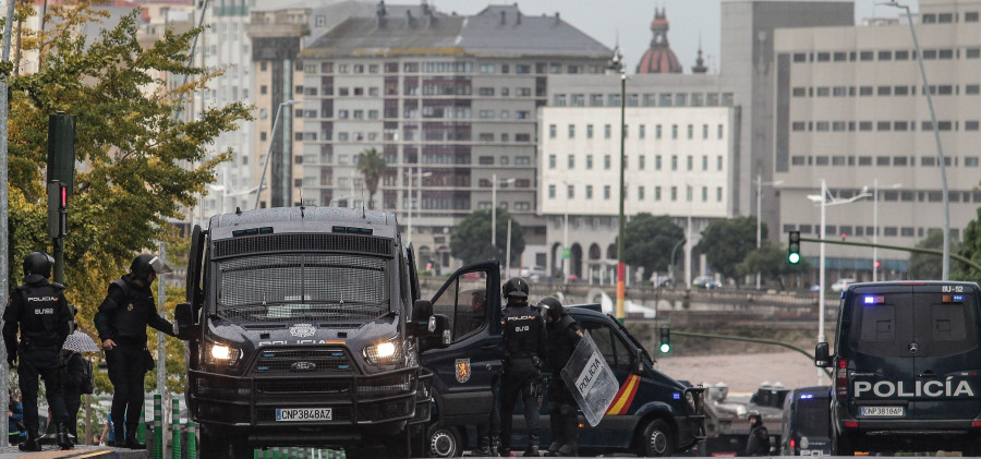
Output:
[[[521,225],[502,208],[497,209],[497,250],[491,245],[491,209],[474,210],[467,216],[450,239],[450,254],[463,263],[504,259],[508,246],[508,221],[511,224],[511,259],[524,252]]]

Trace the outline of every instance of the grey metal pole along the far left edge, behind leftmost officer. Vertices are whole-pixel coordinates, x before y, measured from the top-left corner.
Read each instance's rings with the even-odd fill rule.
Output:
[[[13,16],[14,16],[14,2],[12,0],[7,1],[7,21],[3,22],[3,62],[10,62],[10,39],[13,31]],[[7,122],[9,120],[8,117],[8,105],[9,100],[7,97],[7,88],[10,75],[0,74],[0,309],[7,307],[7,301],[10,295],[10,244],[7,238],[8,231],[8,218],[10,210],[10,196],[8,195],[8,189],[10,188],[10,182],[8,180],[7,174],[7,153],[8,153],[8,130]],[[7,362],[7,348],[0,346],[0,403],[7,407],[10,404],[9,392],[10,388],[10,377],[8,371],[10,370],[7,365],[3,364]],[[0,446],[8,446],[10,439],[8,438],[8,433],[10,432],[10,426],[5,422],[0,422],[3,424],[0,427]]]

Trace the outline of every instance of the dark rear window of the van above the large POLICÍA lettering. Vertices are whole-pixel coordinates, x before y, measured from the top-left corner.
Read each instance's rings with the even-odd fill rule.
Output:
[[[978,347],[974,299],[969,293],[857,294],[851,307],[851,348],[876,357],[943,357]]]

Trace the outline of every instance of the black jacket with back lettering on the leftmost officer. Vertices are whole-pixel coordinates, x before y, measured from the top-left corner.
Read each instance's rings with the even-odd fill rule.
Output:
[[[8,355],[15,355],[17,351],[17,325],[24,347],[60,350],[71,333],[73,319],[64,299],[64,286],[49,283],[38,275],[31,275],[25,281],[14,290],[3,311],[3,342]]]

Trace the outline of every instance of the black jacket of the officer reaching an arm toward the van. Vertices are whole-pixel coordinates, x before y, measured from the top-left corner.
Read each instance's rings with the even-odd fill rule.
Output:
[[[140,287],[133,279],[128,274],[109,285],[109,293],[95,315],[99,339],[145,346],[147,325],[174,336],[173,325],[157,314],[149,286]]]

